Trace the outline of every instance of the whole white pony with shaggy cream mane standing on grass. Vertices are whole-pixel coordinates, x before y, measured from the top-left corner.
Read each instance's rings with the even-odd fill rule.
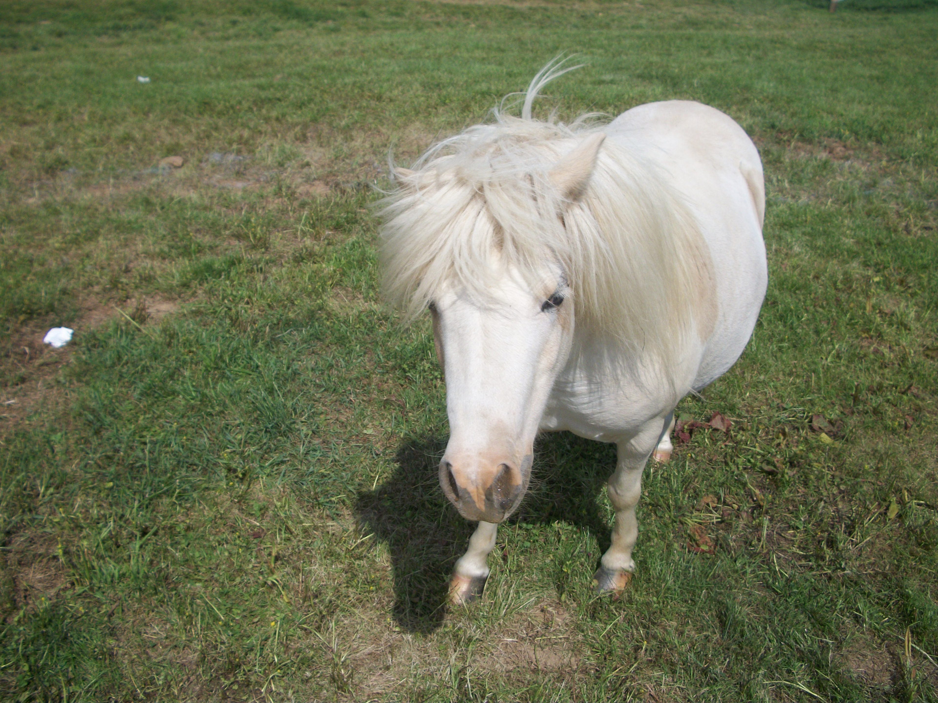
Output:
[[[396,169],[383,211],[390,300],[429,307],[450,436],[440,486],[478,520],[451,600],[479,595],[497,524],[522,500],[538,430],[615,442],[598,591],[635,568],[635,506],[673,409],[733,366],[762,306],[762,163],[730,117],[656,102],[598,126],[494,111]]]

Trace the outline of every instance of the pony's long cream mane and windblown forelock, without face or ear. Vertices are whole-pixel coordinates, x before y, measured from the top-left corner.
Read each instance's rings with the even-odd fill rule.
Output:
[[[557,262],[578,336],[616,338],[667,370],[706,294],[709,254],[682,199],[627,138],[603,142],[577,202],[552,186],[552,166],[604,128],[595,114],[569,125],[532,118],[537,93],[570,69],[542,69],[522,117],[496,108],[492,123],[434,144],[413,172],[399,172],[381,213],[385,294],[413,319],[446,285],[484,297],[507,267],[537,284]]]

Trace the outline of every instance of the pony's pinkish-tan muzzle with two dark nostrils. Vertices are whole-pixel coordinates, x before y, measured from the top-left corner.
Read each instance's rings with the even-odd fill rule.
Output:
[[[531,458],[525,456],[521,466],[507,460],[480,466],[477,462],[453,462],[444,457],[440,462],[440,486],[467,520],[502,522],[522,501]]]

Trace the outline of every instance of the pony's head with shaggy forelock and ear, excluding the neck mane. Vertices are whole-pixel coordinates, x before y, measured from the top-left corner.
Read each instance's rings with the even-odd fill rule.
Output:
[[[538,164],[518,142],[496,141],[468,163],[438,159],[423,172],[397,173],[404,192],[385,232],[413,217],[408,232],[429,236],[419,253],[386,239],[387,288],[409,279],[416,290],[403,296],[407,307],[419,301],[431,310],[450,426],[440,485],[468,519],[501,522],[528,486],[538,423],[573,336],[559,232],[604,137],[574,142],[550,168],[542,153]],[[418,276],[401,272],[414,265]]]

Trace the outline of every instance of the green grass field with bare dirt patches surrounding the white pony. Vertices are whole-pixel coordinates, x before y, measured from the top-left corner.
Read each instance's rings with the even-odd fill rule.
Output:
[[[4,2],[0,698],[938,700],[936,36],[929,0]],[[542,115],[749,131],[769,290],[629,590],[590,591],[613,448],[558,434],[452,608],[373,186],[558,52]]]

